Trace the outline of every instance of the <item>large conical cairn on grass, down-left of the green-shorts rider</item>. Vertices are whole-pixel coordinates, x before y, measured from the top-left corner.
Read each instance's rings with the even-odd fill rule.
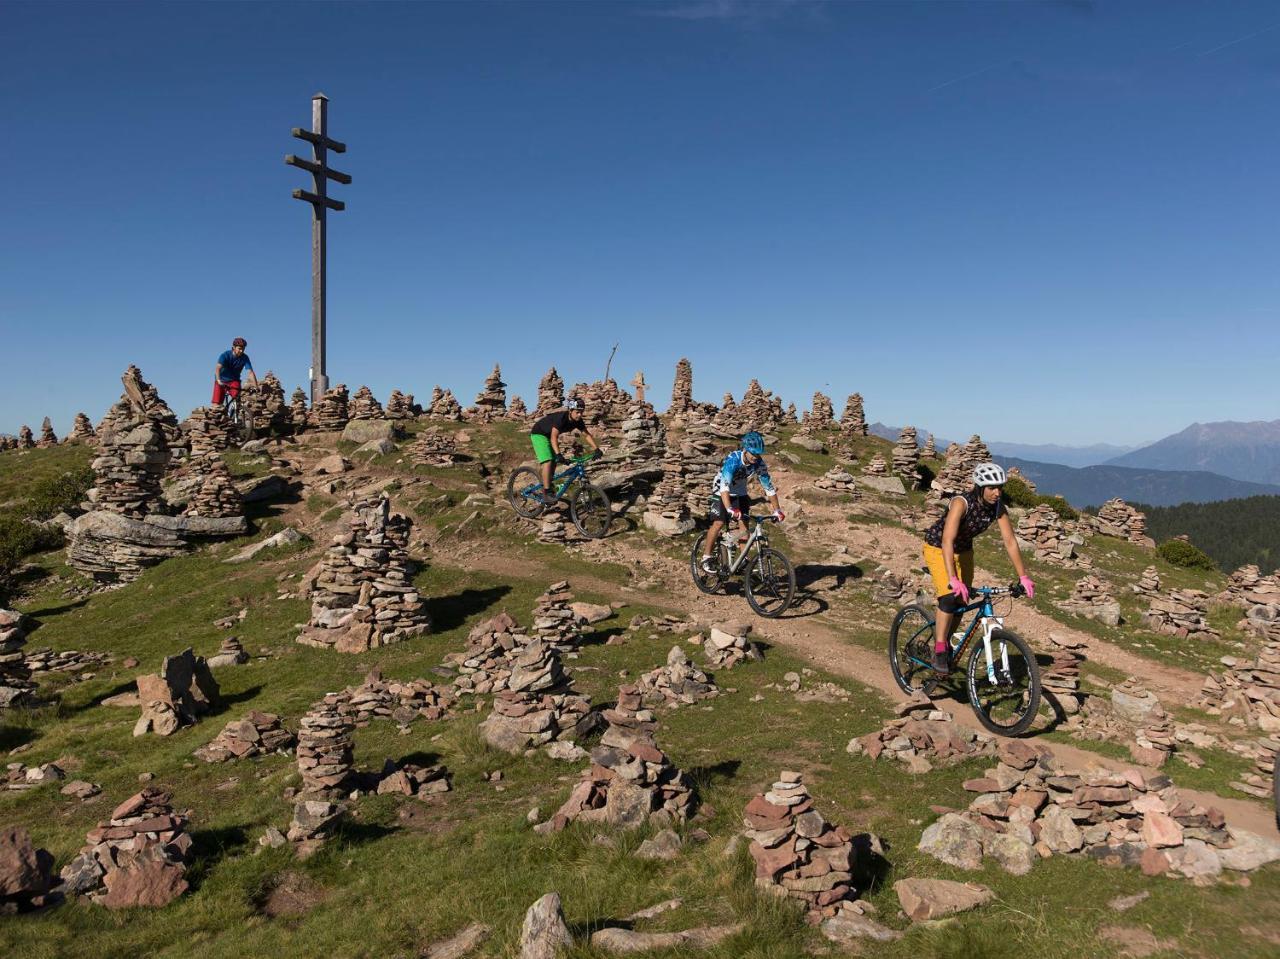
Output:
[[[426,604],[412,584],[412,526],[390,501],[355,499],[348,531],[334,536],[311,588],[311,621],[298,643],[361,653],[430,631]]]

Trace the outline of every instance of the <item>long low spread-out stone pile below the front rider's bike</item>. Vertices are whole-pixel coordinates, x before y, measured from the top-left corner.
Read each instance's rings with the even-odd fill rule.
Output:
[[[1000,744],[995,768],[964,785],[980,795],[968,812],[929,826],[919,845],[963,869],[980,868],[988,855],[1020,876],[1037,858],[1076,854],[1202,885],[1224,868],[1249,871],[1280,855],[1226,828],[1220,809],[1184,799],[1162,773],[1068,768],[1016,739]]]

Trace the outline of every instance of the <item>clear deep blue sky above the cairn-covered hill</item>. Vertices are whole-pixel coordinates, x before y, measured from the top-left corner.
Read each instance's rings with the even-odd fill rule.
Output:
[[[330,376],[532,401],[675,361],[948,437],[1274,419],[1275,3],[18,4],[0,430],[310,361],[310,96],[349,143]],[[335,165],[337,161],[335,161]]]

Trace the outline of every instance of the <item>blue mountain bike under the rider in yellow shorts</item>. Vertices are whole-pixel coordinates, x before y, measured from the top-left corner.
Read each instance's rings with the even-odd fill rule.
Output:
[[[1036,720],[1039,708],[1039,666],[1027,640],[1005,629],[992,598],[1025,595],[1021,584],[979,586],[977,599],[956,615],[955,631],[947,640],[947,659],[957,665],[978,636],[965,670],[969,704],[986,729],[1001,736],[1020,736]],[[977,613],[968,629],[964,617]],[[933,670],[933,609],[919,603],[904,606],[888,631],[888,663],[904,693],[929,694],[942,679]]]

